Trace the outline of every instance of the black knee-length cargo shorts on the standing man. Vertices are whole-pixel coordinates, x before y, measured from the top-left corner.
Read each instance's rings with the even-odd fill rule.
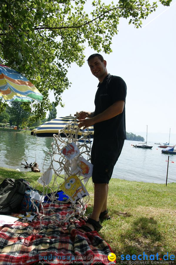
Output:
[[[102,139],[94,138],[91,149],[93,164],[93,183],[109,183],[115,163],[122,151],[124,139],[117,137]]]

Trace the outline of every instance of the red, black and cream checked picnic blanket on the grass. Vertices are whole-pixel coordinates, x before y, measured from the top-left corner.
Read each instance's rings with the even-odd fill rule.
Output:
[[[44,206],[45,215],[50,216],[53,213],[48,206]],[[57,218],[73,213],[71,204],[56,202],[50,204],[50,208]],[[39,228],[38,216],[29,223],[16,221],[0,227],[0,264],[26,265],[37,261],[39,264],[100,264],[100,261],[108,264],[110,246],[96,231],[78,230],[85,224],[83,218],[64,227],[53,224],[49,217],[41,220],[42,229],[35,235],[30,230]]]

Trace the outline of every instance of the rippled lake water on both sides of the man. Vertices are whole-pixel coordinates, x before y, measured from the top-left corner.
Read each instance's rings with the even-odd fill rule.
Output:
[[[42,172],[45,155],[51,147],[53,138],[39,138],[25,133],[0,131],[0,167],[19,168],[21,171],[29,171],[20,165],[24,163],[23,157],[30,164],[35,161]],[[136,180],[153,183],[165,183],[167,174],[168,155],[162,154],[162,148],[154,143],[152,149],[134,148],[136,141],[125,140],[122,153],[113,171],[113,178]],[[176,182],[176,155],[170,155],[167,182]],[[50,164],[46,158],[44,171]]]

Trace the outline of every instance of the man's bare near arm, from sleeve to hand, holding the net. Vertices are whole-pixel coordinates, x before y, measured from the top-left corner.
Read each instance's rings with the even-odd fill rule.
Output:
[[[89,119],[79,120],[80,124],[78,126],[83,127],[83,129],[85,129],[86,127],[92,126],[97,122],[109,120],[109,119],[119,115],[120,113],[122,113],[124,105],[125,105],[124,100],[118,100],[115,103],[113,103],[113,105],[108,107],[105,111],[103,111],[102,113],[100,113],[94,117],[90,117]]]

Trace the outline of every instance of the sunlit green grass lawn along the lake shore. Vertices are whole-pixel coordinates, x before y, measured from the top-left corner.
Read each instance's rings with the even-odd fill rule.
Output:
[[[4,178],[24,178],[34,187],[40,175],[0,168],[1,182]],[[86,188],[93,194],[91,180]],[[37,189],[42,191],[42,186],[38,184]],[[149,255],[155,255],[155,261],[157,253],[162,258],[168,252],[169,256],[175,255],[171,264],[176,264],[176,183],[166,187],[165,184],[111,179],[108,205],[111,220],[103,222],[99,234],[117,256],[117,264],[122,254],[124,257],[127,254],[143,256],[143,251],[148,259]],[[87,213],[91,213],[92,207],[93,195],[90,195]]]

